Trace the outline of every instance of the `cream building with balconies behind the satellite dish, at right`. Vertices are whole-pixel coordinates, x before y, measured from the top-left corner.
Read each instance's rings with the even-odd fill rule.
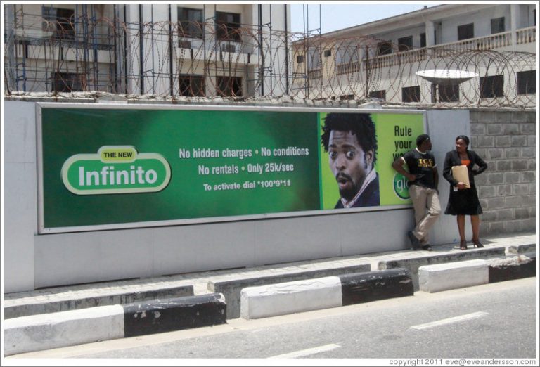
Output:
[[[536,49],[535,4],[434,6],[295,42],[293,90],[321,99],[534,105]],[[425,70],[477,77],[439,85],[437,94],[416,75]]]

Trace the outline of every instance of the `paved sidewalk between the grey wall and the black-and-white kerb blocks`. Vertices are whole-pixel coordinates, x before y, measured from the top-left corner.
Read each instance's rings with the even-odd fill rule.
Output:
[[[71,285],[47,288],[29,292],[4,295],[5,318],[29,316],[54,311],[68,311],[85,307],[105,306],[118,303],[154,300],[156,298],[205,295],[217,290],[211,285],[236,279],[253,279],[285,274],[314,273],[317,276],[335,275],[340,269],[364,269],[375,271],[387,269],[391,262],[439,259],[437,262],[455,262],[463,259],[501,257],[525,252],[536,252],[535,233],[517,233],[512,236],[487,236],[482,238],[484,249],[459,250],[458,244],[433,246],[433,251],[401,250],[378,252],[368,255],[334,257],[287,264],[256,266],[243,269],[202,271],[198,273],[162,276],[159,278],[137,279]],[[504,249],[501,249],[504,247]],[[366,266],[367,269],[366,269]],[[394,266],[395,267],[395,266]],[[416,266],[418,269],[418,266]],[[354,271],[349,271],[354,272]],[[341,272],[342,273],[342,272]],[[306,278],[304,276],[304,278]],[[418,279],[416,279],[418,281]],[[418,290],[416,283],[415,290]],[[229,300],[227,300],[229,307]],[[237,316],[238,317],[238,316]]]

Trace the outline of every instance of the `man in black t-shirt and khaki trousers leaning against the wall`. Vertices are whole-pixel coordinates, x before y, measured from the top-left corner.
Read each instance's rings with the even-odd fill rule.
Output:
[[[409,196],[413,202],[416,227],[413,231],[409,231],[407,236],[411,240],[413,250],[418,247],[427,251],[432,250],[429,231],[441,213],[437,191],[439,176],[435,157],[430,153],[431,148],[430,136],[419,135],[416,138],[416,148],[409,150],[392,163],[392,167],[409,180]],[[403,167],[405,163],[409,167],[409,172]]]

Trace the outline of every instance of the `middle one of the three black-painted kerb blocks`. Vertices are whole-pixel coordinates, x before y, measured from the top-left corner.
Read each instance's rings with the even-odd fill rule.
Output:
[[[407,269],[346,274],[340,279],[343,306],[414,295],[413,280]]]

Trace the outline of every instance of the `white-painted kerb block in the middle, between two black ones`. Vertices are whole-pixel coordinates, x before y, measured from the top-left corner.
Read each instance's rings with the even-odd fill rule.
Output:
[[[240,316],[262,318],[342,305],[340,278],[329,276],[244,288]]]

